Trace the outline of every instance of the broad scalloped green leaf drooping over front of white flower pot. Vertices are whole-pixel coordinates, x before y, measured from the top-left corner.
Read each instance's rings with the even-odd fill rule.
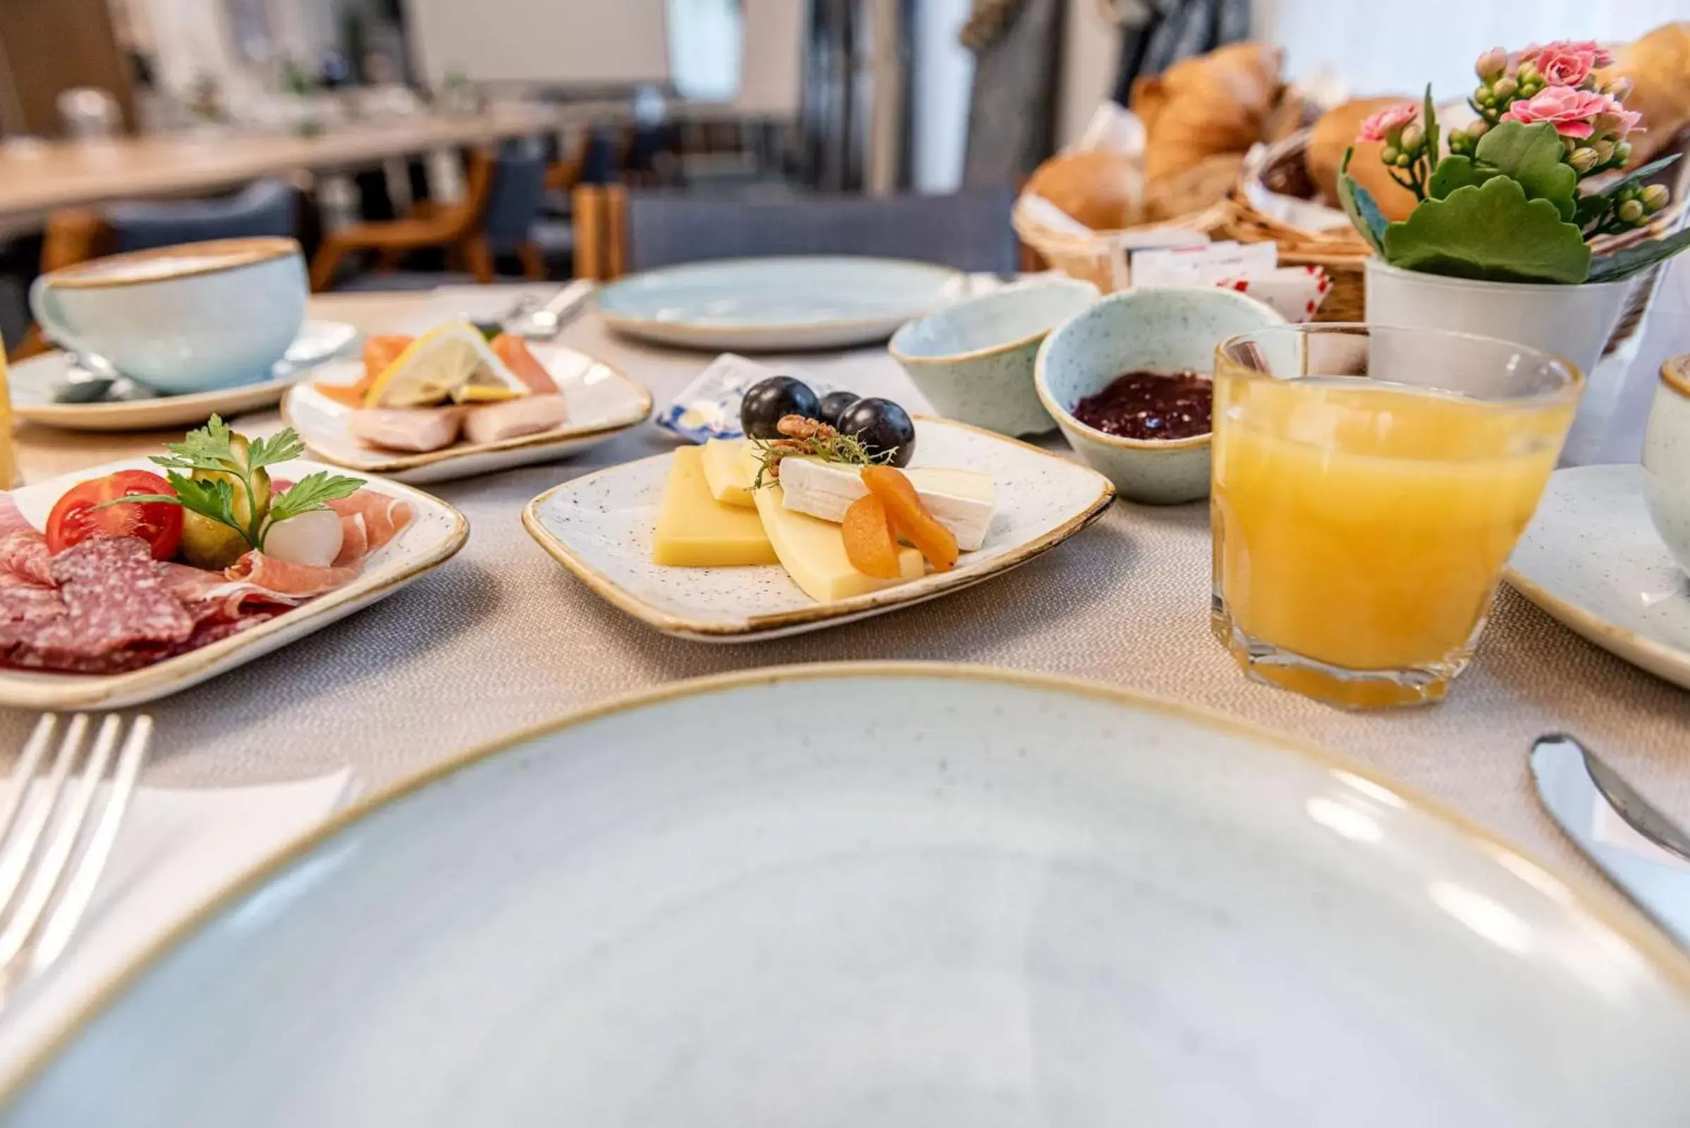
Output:
[[[1577,284],[1590,270],[1578,228],[1506,176],[1421,203],[1386,228],[1384,257],[1404,270],[1491,282]]]

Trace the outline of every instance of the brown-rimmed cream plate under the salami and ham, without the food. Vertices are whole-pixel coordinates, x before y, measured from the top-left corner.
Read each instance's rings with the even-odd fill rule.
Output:
[[[162,451],[161,451],[162,453]],[[127,458],[105,466],[95,466],[74,475],[61,475],[14,493],[19,508],[35,529],[47,523],[52,503],[78,481],[100,478],[118,469],[157,469],[144,458]],[[297,481],[318,469],[338,473],[335,466],[296,459],[272,469],[279,478]],[[309,603],[284,611],[238,635],[230,635],[208,647],[189,650],[174,659],[132,670],[128,674],[54,674],[46,670],[14,670],[0,667],[0,706],[24,709],[122,709],[125,706],[155,701],[198,686],[208,677],[226,674],[237,665],[286,647],[353,611],[394,594],[422,572],[438,567],[456,556],[470,535],[463,513],[439,498],[394,481],[372,478],[365,490],[401,496],[411,503],[411,523],[389,544],[372,552],[363,562],[363,572],[346,584]]]

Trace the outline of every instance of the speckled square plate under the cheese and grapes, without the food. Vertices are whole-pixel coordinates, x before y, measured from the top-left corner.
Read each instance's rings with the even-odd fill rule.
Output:
[[[657,630],[700,642],[754,642],[837,626],[960,591],[1026,564],[1097,520],[1114,498],[1102,475],[1034,446],[945,419],[918,419],[913,466],[992,475],[997,512],[957,567],[837,603],[816,603],[777,564],[662,567],[651,562],[673,454],[624,463],[549,490],[522,523],[595,593]]]

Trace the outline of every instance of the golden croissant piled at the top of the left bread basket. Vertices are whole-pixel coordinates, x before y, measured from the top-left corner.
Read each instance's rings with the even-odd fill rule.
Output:
[[[1132,111],[1144,122],[1146,177],[1158,181],[1259,142],[1279,95],[1283,62],[1279,47],[1240,42],[1134,79]]]

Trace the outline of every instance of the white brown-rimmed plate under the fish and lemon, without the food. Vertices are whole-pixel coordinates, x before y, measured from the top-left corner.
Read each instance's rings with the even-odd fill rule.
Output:
[[[586,353],[556,344],[529,344],[534,358],[558,382],[570,419],[564,426],[541,434],[526,434],[502,442],[458,442],[444,451],[402,454],[363,446],[348,431],[352,409],[318,392],[311,383],[357,383],[363,377],[362,360],[336,361],[313,373],[309,383],[289,388],[282,400],[282,419],[306,444],[306,451],[324,463],[367,475],[385,475],[394,481],[451,481],[512,466],[554,463],[598,446],[651,415],[651,392],[646,385]]]

